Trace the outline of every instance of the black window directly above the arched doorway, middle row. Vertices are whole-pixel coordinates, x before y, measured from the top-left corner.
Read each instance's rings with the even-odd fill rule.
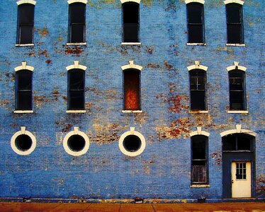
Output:
[[[230,110],[246,110],[244,71],[229,71]]]

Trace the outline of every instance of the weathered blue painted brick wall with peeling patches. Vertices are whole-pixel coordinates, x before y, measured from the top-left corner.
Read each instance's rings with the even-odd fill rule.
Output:
[[[222,139],[235,129],[256,132],[256,197],[264,197],[264,6],[246,0],[246,47],[227,47],[225,4],[205,1],[206,46],[187,46],[184,1],[140,3],[141,46],[122,46],[120,1],[91,0],[86,6],[86,46],[66,46],[67,1],[37,1],[34,47],[15,47],[16,1],[0,6],[0,197],[62,199],[222,199]],[[124,114],[123,72],[133,59],[141,71],[142,110]],[[86,113],[67,114],[67,70],[74,64],[86,69]],[[34,66],[33,114],[15,110],[14,68],[26,61]],[[187,66],[208,66],[208,114],[190,114]],[[227,66],[234,61],[247,67],[248,114],[227,114]],[[172,112],[178,99],[180,111]],[[170,100],[171,98],[171,100]],[[178,121],[176,136],[171,124]],[[37,147],[17,155],[10,145],[20,126],[32,132]],[[90,139],[80,157],[67,154],[64,136],[79,126]],[[147,141],[145,151],[130,158],[118,148],[118,139],[135,126]],[[209,136],[207,188],[191,188],[191,139],[202,126]]]

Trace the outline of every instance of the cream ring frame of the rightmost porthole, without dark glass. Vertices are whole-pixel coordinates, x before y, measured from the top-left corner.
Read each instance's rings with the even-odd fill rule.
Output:
[[[135,152],[129,152],[123,146],[124,139],[127,136],[130,136],[130,135],[137,136],[140,139],[140,141],[141,141],[141,147],[140,147],[140,149],[137,150],[137,151],[135,151]],[[119,139],[119,148],[120,148],[120,151],[123,154],[125,154],[125,155],[128,155],[130,157],[135,157],[137,155],[140,155],[140,154],[142,154],[143,151],[145,151],[145,146],[146,146],[145,137],[142,134],[140,134],[140,132],[135,131],[135,127],[130,127],[130,131],[126,131],[124,134],[122,134],[120,136],[120,139]]]

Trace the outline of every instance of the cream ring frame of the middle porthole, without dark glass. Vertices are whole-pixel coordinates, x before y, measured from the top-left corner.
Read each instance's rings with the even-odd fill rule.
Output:
[[[81,137],[83,137],[84,141],[85,141],[85,145],[84,148],[81,151],[72,151],[69,146],[68,146],[68,139],[71,136],[75,136],[75,135],[79,135]],[[66,134],[66,136],[64,136],[64,140],[63,140],[63,146],[64,146],[64,150],[69,154],[69,155],[73,155],[73,156],[81,156],[84,155],[88,150],[89,150],[89,145],[90,145],[90,141],[89,141],[89,137],[83,132],[83,131],[79,131],[79,127],[74,127],[73,131],[70,131],[68,134]]]

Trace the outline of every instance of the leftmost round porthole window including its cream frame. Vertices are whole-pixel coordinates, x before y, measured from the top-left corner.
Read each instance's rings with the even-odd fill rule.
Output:
[[[17,131],[11,138],[11,148],[18,155],[29,155],[35,150],[36,138],[26,131],[25,126],[21,126],[21,131]]]

